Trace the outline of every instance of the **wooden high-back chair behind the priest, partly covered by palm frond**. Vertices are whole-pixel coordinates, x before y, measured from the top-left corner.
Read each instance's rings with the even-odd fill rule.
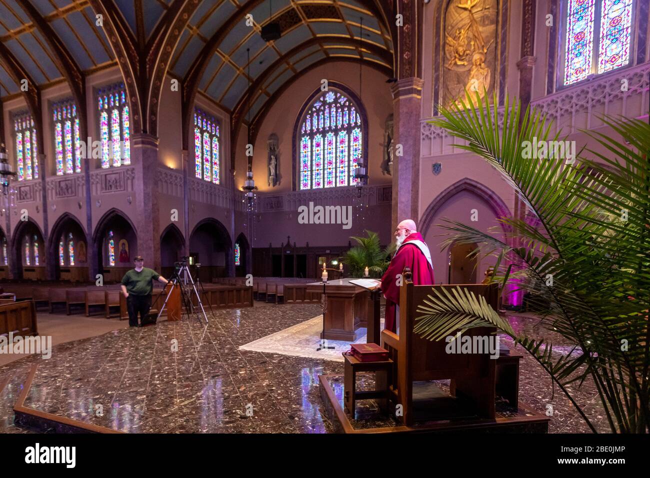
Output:
[[[414,285],[411,271],[404,269],[404,283],[400,287],[398,334],[382,330],[382,347],[389,351],[395,362],[393,374],[388,377],[390,398],[393,405],[402,405],[402,422],[413,425],[413,381],[451,380],[451,392],[471,403],[480,418],[495,418],[495,362],[489,354],[448,354],[447,341],[422,339],[413,332],[415,317],[422,313],[417,307],[428,295],[436,297],[432,287],[457,287],[457,285]],[[499,300],[497,284],[461,285],[474,295],[483,295],[496,307]],[[493,327],[467,330],[465,336],[489,336]],[[458,330],[450,333],[455,335]],[[435,402],[434,402],[435,403]],[[434,405],[435,406],[435,405]],[[395,407],[393,407],[395,410]],[[399,418],[399,417],[398,417]]]

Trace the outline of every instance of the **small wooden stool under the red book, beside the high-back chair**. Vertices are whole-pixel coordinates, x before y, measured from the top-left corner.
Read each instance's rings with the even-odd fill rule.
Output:
[[[360,362],[356,357],[343,353],[345,358],[345,375],[344,375],[344,399],[345,408],[354,418],[354,408],[357,400],[378,399],[379,406],[386,410],[388,403],[388,374],[393,369],[393,360],[388,359],[382,362]],[[375,390],[374,392],[357,392],[357,373],[374,372],[375,373]],[[377,373],[385,373],[385,380],[378,380]],[[385,386],[384,390],[381,390]]]

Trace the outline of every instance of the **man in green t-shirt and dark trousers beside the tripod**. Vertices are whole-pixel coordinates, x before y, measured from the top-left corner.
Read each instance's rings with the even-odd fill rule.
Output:
[[[122,278],[122,293],[126,297],[127,310],[129,311],[129,325],[138,326],[138,313],[140,313],[140,326],[146,325],[145,318],[151,309],[151,292],[153,282],[167,284],[166,278],[148,267],[144,267],[142,256],[133,259],[135,269],[131,269]]]

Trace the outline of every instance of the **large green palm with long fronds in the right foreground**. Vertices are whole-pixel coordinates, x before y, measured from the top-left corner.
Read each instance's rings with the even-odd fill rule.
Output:
[[[492,280],[538,299],[543,325],[573,349],[560,354],[549,341],[515,333],[483,297],[463,287],[435,289],[419,306],[415,331],[439,340],[450,327],[495,326],[549,373],[591,431],[570,383],[593,380],[612,432],[649,432],[650,126],[603,118],[623,141],[584,131],[598,150],[587,148],[571,162],[526,159],[526,141],[558,139],[549,136],[545,116],[506,99],[499,127],[496,96],[489,104],[476,94],[474,104],[441,107],[433,123],[463,140],[458,148],[499,170],[534,220],[500,219],[512,228],[510,241],[446,220],[443,246],[479,244],[495,257]]]

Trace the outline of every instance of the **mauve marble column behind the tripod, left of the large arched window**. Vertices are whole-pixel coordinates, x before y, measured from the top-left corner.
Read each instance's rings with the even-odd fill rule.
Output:
[[[146,133],[131,137],[131,164],[135,166],[138,255],[144,258],[144,265],[160,271],[161,228],[156,174],[158,169],[157,137]]]

